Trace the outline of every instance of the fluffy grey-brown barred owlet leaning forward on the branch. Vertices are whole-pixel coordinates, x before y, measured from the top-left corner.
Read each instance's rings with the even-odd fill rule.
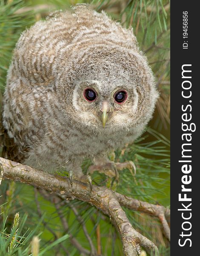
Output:
[[[83,177],[84,158],[109,163],[108,151],[140,136],[158,92],[132,29],[77,5],[20,36],[7,75],[3,157]]]

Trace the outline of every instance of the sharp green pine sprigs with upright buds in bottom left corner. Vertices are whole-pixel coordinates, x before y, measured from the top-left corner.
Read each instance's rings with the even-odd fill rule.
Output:
[[[13,182],[11,182],[13,183]],[[13,186],[13,185],[12,185]],[[13,191],[9,190],[9,192],[13,195]],[[8,209],[8,204],[1,205],[2,209]],[[9,207],[10,208],[10,207]],[[42,224],[43,218],[40,218],[37,221],[37,225],[34,228],[29,229],[26,227],[26,222],[28,215],[24,214],[23,218],[20,218],[19,212],[15,213],[11,229],[8,230],[8,218],[9,215],[5,215],[5,212],[1,212],[1,225],[0,225],[0,255],[3,256],[42,256],[46,255],[45,253],[50,251],[52,247],[56,247],[63,241],[68,239],[69,235],[66,234],[64,236],[60,236],[57,240],[48,245],[40,248],[40,240],[39,237],[42,234],[39,231],[40,225]],[[26,231],[24,231],[26,230]],[[34,236],[37,234],[37,236]],[[38,240],[38,246],[35,244],[35,238]],[[37,254],[34,255],[34,247],[38,247]]]

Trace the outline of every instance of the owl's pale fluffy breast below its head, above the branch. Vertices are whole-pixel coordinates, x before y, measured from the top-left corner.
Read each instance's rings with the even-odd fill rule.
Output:
[[[50,110],[52,111],[52,108]],[[81,163],[84,158],[106,155],[108,151],[123,148],[126,143],[132,143],[136,135],[126,130],[92,131],[88,127],[77,125],[72,119],[59,115],[60,112],[57,113],[56,119],[53,116],[45,119],[43,127],[46,131],[31,145],[31,166],[48,171],[50,166],[53,171],[58,166],[66,166],[69,161]]]

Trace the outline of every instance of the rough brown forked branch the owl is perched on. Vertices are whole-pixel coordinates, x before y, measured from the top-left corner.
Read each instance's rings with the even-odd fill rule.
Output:
[[[66,177],[52,175],[2,157],[0,157],[0,165],[0,177],[3,177],[3,179],[20,181],[42,188],[61,195],[66,200],[77,198],[100,209],[110,217],[111,222],[120,233],[125,256],[137,256],[140,253],[140,246],[146,247],[148,250],[152,250],[154,255],[158,255],[156,245],[132,227],[121,205],[129,209],[140,210],[155,215],[159,218],[161,213],[162,217],[166,216],[165,214],[169,214],[166,213],[169,211],[164,207],[162,208],[161,206],[128,198],[106,187],[93,186],[90,192],[88,184],[77,180],[73,181],[73,187],[71,187],[70,181]],[[160,215],[159,212],[161,212]],[[164,224],[166,225],[166,223]]]

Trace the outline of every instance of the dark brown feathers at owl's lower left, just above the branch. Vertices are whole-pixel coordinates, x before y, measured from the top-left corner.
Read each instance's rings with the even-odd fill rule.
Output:
[[[6,129],[2,125],[2,114],[0,115],[0,148],[2,148],[2,157],[15,161],[17,163],[23,163],[26,159],[24,152],[28,152],[29,148],[24,147],[23,153],[19,146],[14,143],[14,139],[10,138]]]

